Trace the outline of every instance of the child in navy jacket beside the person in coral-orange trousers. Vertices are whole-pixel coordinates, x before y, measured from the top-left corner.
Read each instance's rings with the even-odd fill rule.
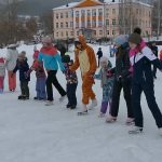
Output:
[[[19,81],[22,91],[22,94],[18,96],[18,99],[29,99],[28,82],[30,81],[30,77],[27,76],[29,65],[27,63],[26,53],[24,51],[18,55],[16,67],[14,68],[13,73],[15,73],[17,70],[19,70]]]

